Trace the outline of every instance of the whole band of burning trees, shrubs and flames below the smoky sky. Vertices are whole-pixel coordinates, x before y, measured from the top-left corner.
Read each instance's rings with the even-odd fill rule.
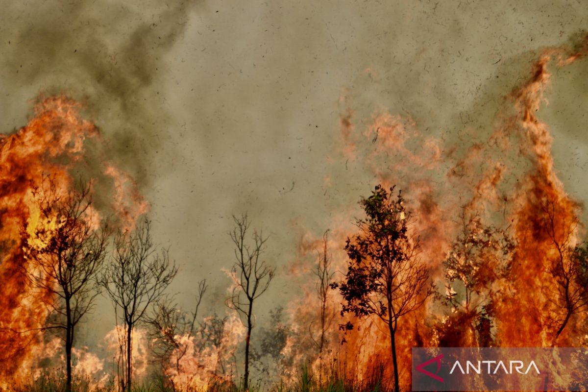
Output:
[[[587,39],[544,51],[487,143],[459,158],[399,116],[377,115],[359,134],[346,110],[342,158],[365,159],[377,185],[351,210],[356,227],[333,223],[302,240],[308,287],[269,326],[257,325],[256,306],[277,272],[264,257],[270,240],[246,215],[228,236],[226,313],[199,314],[204,281],[193,311],[178,309],[166,296],[178,269],[157,249],[131,177],[109,162],[84,174],[98,129],[78,103],[39,99],[28,125],[0,139],[0,390],[131,391],[155,374],[153,388],[173,391],[250,390],[256,378],[266,388],[399,391],[410,388],[412,347],[585,346],[582,205],[557,178],[536,112],[549,66],[587,53]],[[98,355],[76,336],[101,293],[119,324]],[[48,373],[58,368],[63,378]]]

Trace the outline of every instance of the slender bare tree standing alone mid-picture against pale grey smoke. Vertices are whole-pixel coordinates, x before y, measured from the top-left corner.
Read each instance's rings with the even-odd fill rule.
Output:
[[[251,330],[254,326],[253,302],[268,290],[275,269],[269,267],[260,259],[265,250],[268,237],[264,238],[262,233],[254,230],[252,243],[248,244],[246,237],[250,222],[247,215],[233,216],[233,220],[235,221],[235,228],[229,232],[229,236],[233,244],[235,244],[236,262],[231,269],[235,279],[235,286],[233,287],[232,295],[226,301],[226,305],[239,313],[243,326],[247,328],[245,374],[243,376],[243,387],[247,390],[249,388],[249,346]]]

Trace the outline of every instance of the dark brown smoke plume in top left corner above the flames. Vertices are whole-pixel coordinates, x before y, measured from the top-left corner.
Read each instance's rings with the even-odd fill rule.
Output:
[[[115,160],[142,186],[148,185],[148,173],[158,164],[149,156],[163,148],[166,133],[172,132],[166,126],[169,112],[161,82],[164,58],[182,39],[193,3],[4,5],[2,128],[6,132],[24,123],[22,117],[14,121],[7,114],[22,113],[18,109],[39,90],[44,95],[66,93],[85,105],[86,115],[106,136],[105,143],[88,152],[88,162],[93,156]]]

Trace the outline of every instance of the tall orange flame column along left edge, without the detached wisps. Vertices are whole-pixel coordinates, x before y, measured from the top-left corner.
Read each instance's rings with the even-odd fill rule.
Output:
[[[15,376],[34,359],[39,344],[36,332],[44,325],[45,307],[36,304],[48,299],[46,293],[30,293],[21,273],[26,268],[22,254],[21,230],[30,220],[39,219],[32,189],[42,185],[47,173],[55,176],[59,192],[72,184],[71,163],[81,157],[83,141],[97,135],[95,126],[78,117],[78,105],[66,98],[48,98],[35,107],[35,118],[13,135],[0,140],[2,197],[2,264],[0,274],[4,293],[0,297],[0,361],[3,376]],[[59,163],[66,160],[68,163]],[[54,226],[55,222],[48,222]],[[31,239],[39,241],[39,239]],[[30,368],[30,366],[28,366]]]

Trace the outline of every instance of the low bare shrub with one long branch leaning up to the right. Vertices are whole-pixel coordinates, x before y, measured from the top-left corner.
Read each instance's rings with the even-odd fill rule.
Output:
[[[178,374],[181,372],[180,363],[189,348],[187,344],[181,343],[181,339],[189,341],[196,333],[196,317],[206,287],[206,280],[201,280],[198,283],[196,306],[191,314],[180,311],[171,303],[171,300],[162,299],[153,305],[153,316],[147,320],[153,341],[151,346],[153,357],[161,365],[163,374],[171,382],[174,391],[176,386],[169,374],[166,373],[166,368],[173,366]]]

